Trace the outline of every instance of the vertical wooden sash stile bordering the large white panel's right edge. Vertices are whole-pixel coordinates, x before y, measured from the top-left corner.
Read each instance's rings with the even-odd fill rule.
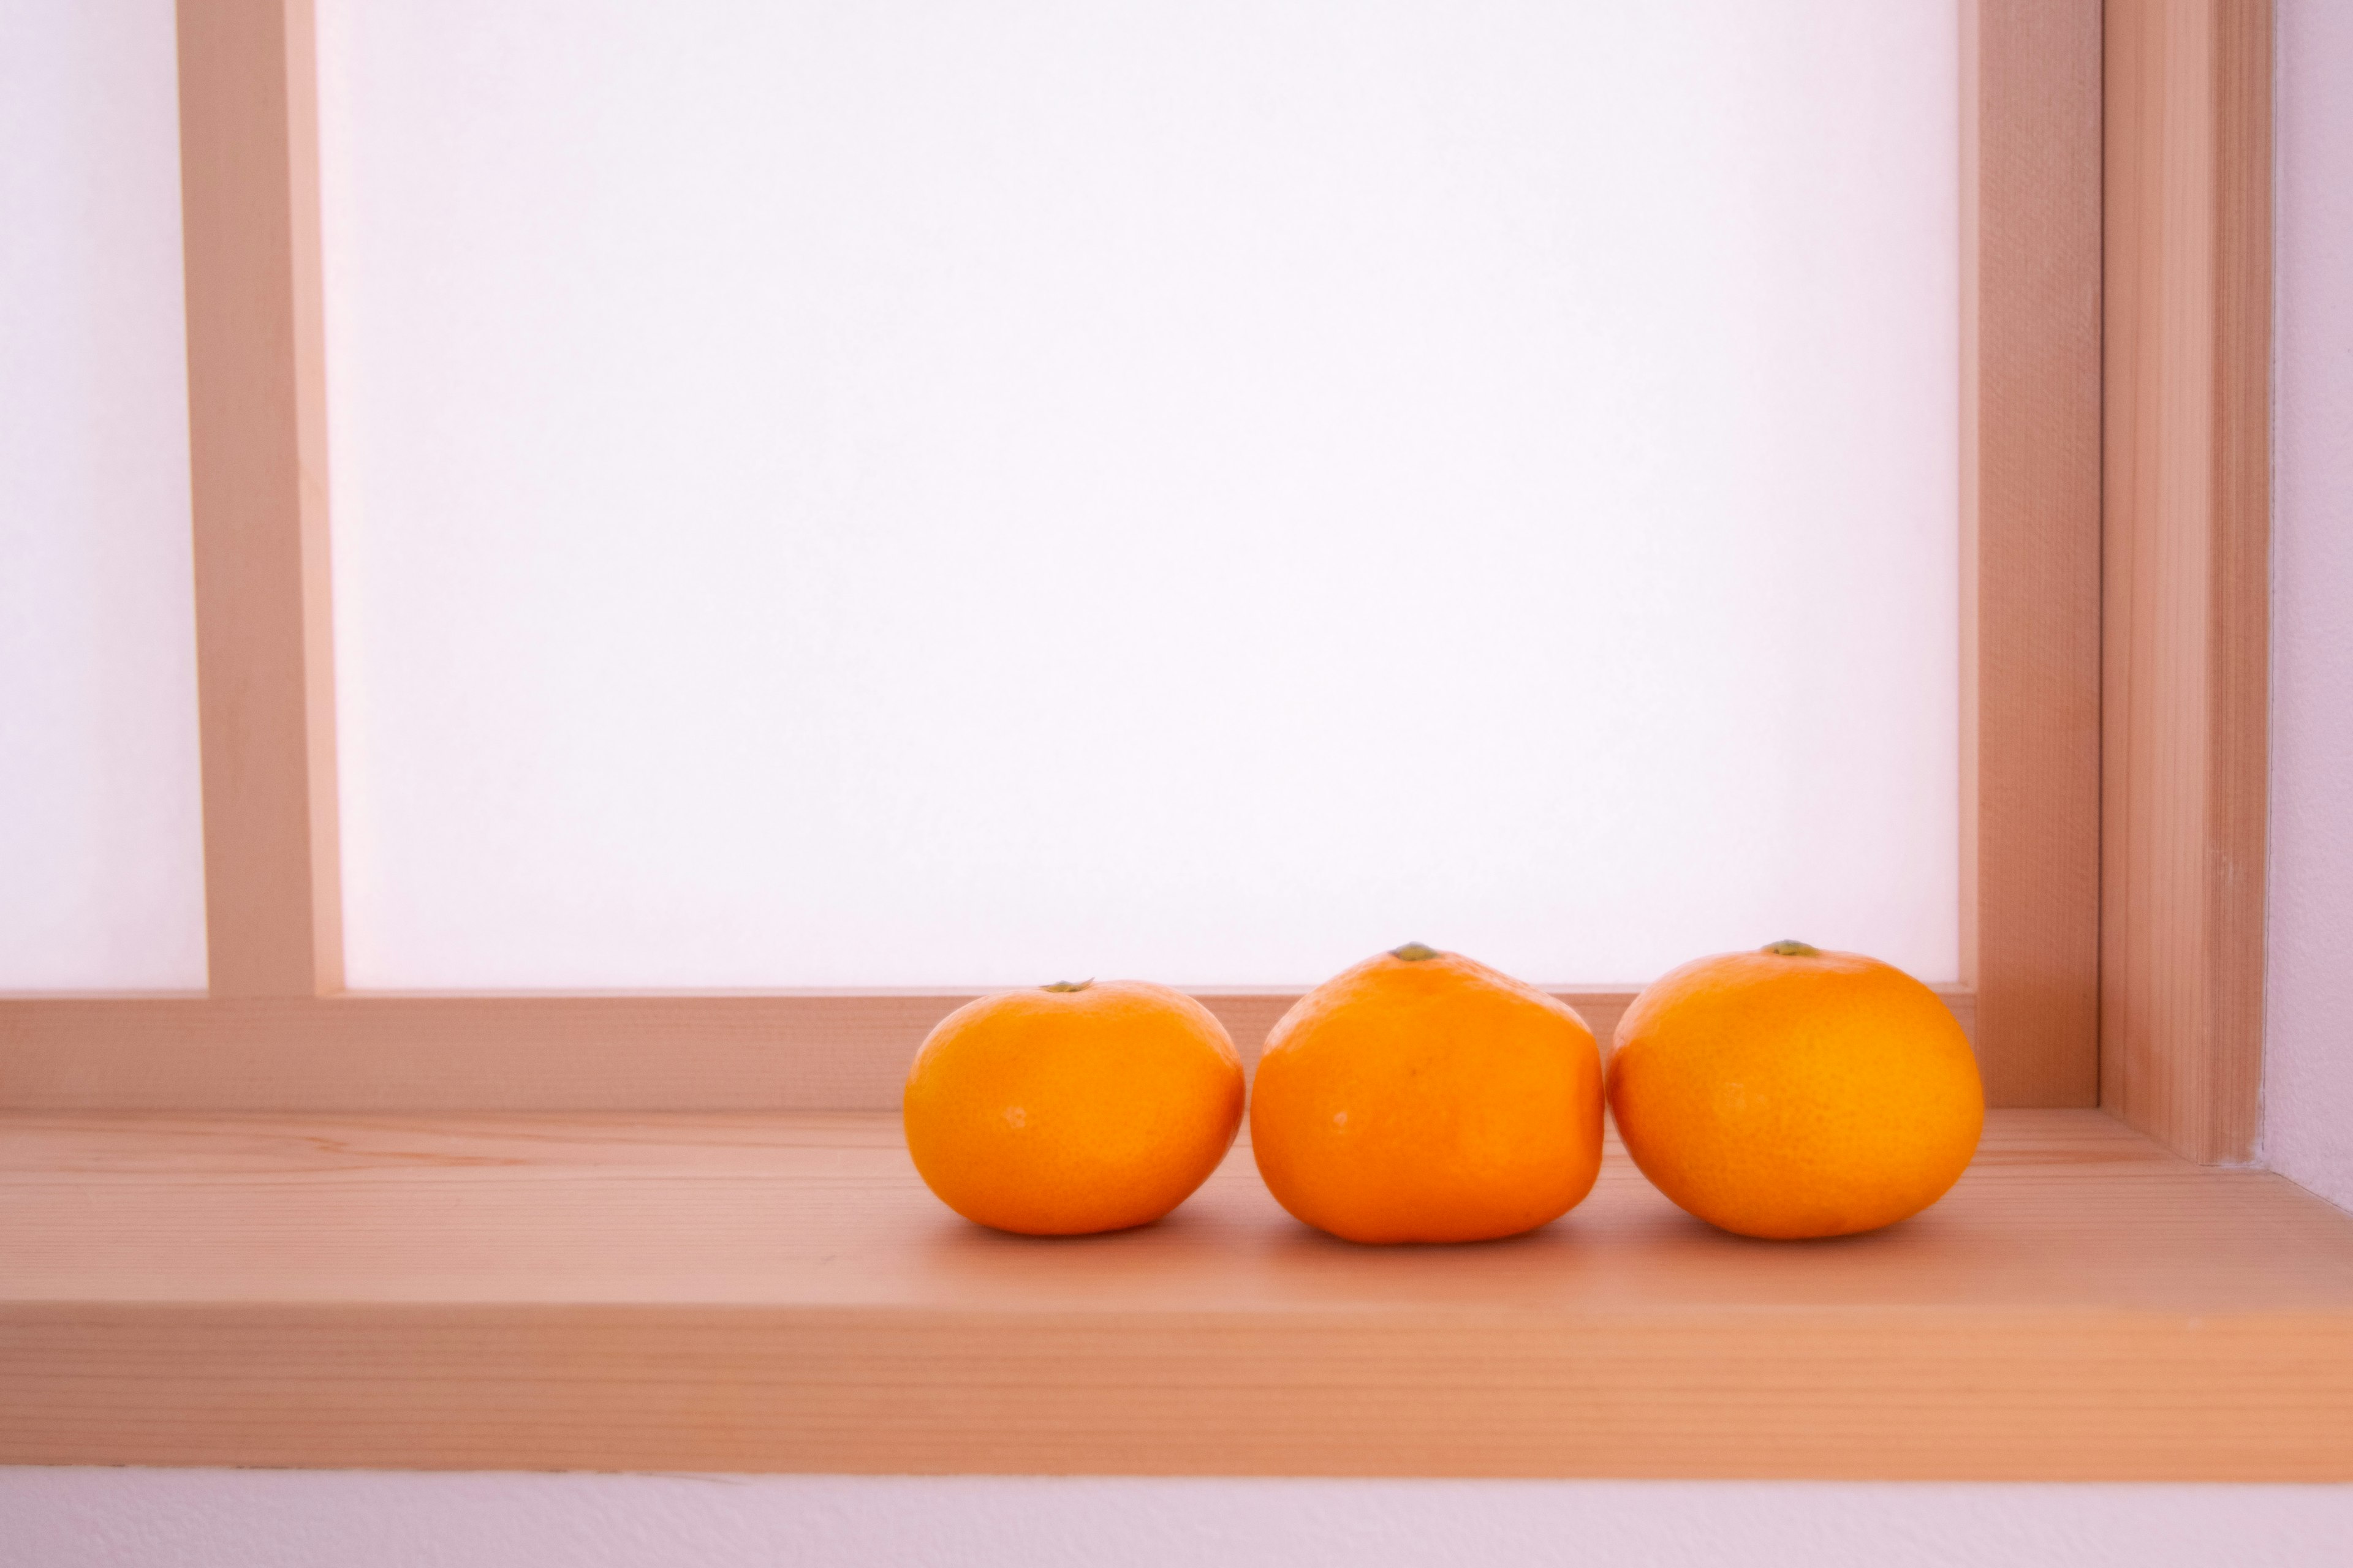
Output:
[[[1962,980],[1995,1105],[2097,1105],[2099,0],[1960,54]]]

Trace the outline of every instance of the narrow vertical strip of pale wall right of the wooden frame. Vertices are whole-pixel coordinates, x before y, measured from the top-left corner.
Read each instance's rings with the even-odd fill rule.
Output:
[[[2353,1208],[2353,5],[2280,7],[2264,1159]]]

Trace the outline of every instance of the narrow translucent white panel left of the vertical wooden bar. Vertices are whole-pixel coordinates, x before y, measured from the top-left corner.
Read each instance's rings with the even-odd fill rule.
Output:
[[[172,0],[0,21],[0,990],[205,983]]]

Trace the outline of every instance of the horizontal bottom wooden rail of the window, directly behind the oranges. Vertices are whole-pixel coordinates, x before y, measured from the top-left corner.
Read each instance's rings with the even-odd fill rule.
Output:
[[[974,992],[0,1001],[0,1110],[896,1110]],[[1631,990],[1558,990],[1607,1044]],[[1941,992],[1967,1032],[1972,997]],[[1297,992],[1200,992],[1242,1051]]]

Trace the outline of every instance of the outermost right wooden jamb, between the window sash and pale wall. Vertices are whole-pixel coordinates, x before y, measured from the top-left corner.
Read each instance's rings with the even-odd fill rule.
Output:
[[[2108,5],[2101,1103],[2207,1161],[2261,1117],[2271,47]]]

